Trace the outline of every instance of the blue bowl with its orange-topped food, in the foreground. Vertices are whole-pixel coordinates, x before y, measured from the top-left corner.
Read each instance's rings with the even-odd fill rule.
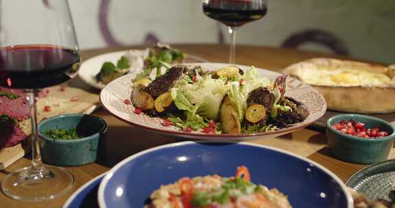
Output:
[[[326,168],[245,142],[178,142],[137,153],[106,174],[98,198],[103,208],[352,207]]]

